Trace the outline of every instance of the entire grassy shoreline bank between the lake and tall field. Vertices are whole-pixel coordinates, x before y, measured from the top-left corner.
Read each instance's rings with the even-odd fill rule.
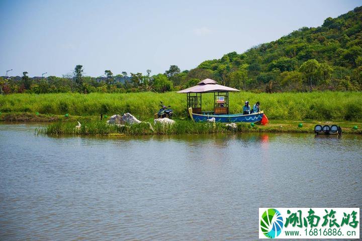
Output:
[[[237,129],[228,129],[225,124],[214,124],[213,126],[205,123],[197,123],[195,125],[191,119],[175,119],[175,128],[162,128],[157,125],[152,125],[155,130],[149,130],[147,125],[127,126],[127,128],[107,127],[106,118],[100,121],[99,116],[74,116],[69,115],[47,115],[47,114],[34,114],[29,112],[12,112],[2,113],[0,115],[0,123],[44,123],[48,127],[56,126],[56,130],[51,133],[41,131],[43,134],[58,135],[58,134],[73,134],[73,135],[92,135],[92,136],[139,136],[139,135],[172,135],[172,134],[217,134],[217,133],[308,133],[314,134],[315,125],[337,125],[341,126],[342,134],[362,134],[360,127],[362,123],[347,122],[347,121],[282,121],[279,119],[269,119],[266,126],[256,124],[251,127],[248,123],[237,124]],[[81,130],[72,130],[77,122],[83,123],[85,126],[96,124],[92,128],[82,128]],[[145,120],[145,122],[152,123],[152,119]],[[298,127],[302,123],[303,127]],[[354,130],[353,127],[357,126],[358,129]],[[48,128],[47,127],[47,128]],[[44,128],[44,129],[47,129]],[[92,130],[90,130],[92,129]],[[106,129],[106,130],[100,130]],[[334,135],[333,135],[334,136]]]

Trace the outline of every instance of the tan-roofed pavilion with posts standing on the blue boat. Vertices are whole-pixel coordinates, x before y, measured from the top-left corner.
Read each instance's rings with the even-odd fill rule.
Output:
[[[197,85],[177,93],[187,94],[187,108],[192,107],[193,113],[228,114],[230,91],[240,90],[220,85],[212,79],[204,79]],[[202,93],[214,93],[214,111],[202,111]]]

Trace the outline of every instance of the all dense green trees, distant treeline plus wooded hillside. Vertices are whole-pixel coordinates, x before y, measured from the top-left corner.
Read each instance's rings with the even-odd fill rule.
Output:
[[[317,28],[303,27],[277,41],[245,53],[228,53],[183,72],[171,65],[164,74],[150,76],[122,72],[116,76],[83,76],[82,65],[63,77],[0,79],[4,93],[165,92],[190,87],[205,78],[254,92],[362,90],[362,7]],[[130,77],[130,78],[129,78]],[[20,77],[19,77],[20,78]]]

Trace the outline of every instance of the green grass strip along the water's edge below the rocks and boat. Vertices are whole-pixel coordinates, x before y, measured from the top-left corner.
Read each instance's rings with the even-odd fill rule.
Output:
[[[58,121],[49,124],[46,128],[37,130],[37,134],[47,135],[102,135],[102,136],[138,136],[138,135],[174,135],[174,134],[213,134],[213,133],[231,133],[231,132],[268,132],[268,133],[314,133],[316,124],[324,123],[310,121],[303,122],[303,127],[298,127],[296,121],[270,121],[267,126],[255,125],[251,127],[247,123],[238,123],[237,130],[230,130],[222,123],[194,123],[190,120],[176,119],[174,125],[161,125],[140,123],[132,126],[118,127],[116,125],[107,125],[105,121],[84,121],[81,128],[76,129],[75,121]],[[343,133],[362,134],[362,130],[353,130],[353,126],[359,126],[352,122],[335,122],[335,125],[342,127]],[[329,124],[331,125],[331,124]]]

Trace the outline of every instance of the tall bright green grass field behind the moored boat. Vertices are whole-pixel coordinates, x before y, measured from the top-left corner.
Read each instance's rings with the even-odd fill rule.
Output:
[[[260,101],[261,109],[269,119],[362,121],[361,92],[306,92],[306,93],[230,93],[230,112],[242,112],[243,102]],[[59,94],[10,94],[0,96],[0,111],[16,116],[64,115],[98,116],[130,112],[145,121],[159,109],[159,101],[171,105],[175,117],[187,116],[186,95],[174,92],[154,93],[59,93]],[[203,95],[203,110],[213,109],[213,93]],[[45,117],[44,117],[45,118]],[[52,119],[56,121],[56,119]]]

